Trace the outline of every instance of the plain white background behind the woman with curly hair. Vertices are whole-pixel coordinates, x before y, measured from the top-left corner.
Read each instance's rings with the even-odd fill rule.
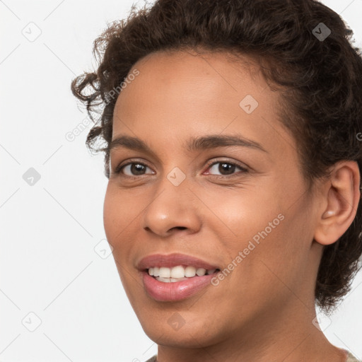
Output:
[[[107,22],[125,18],[132,2],[0,1],[0,362],[127,362],[156,354],[112,255],[96,252],[105,243],[103,156],[86,149],[90,126],[74,141],[65,137],[86,118],[71,80],[94,69],[93,40]],[[323,2],[341,13],[361,47],[362,0]],[[41,30],[33,42],[22,33],[30,22]],[[23,180],[29,168],[41,177],[33,186]],[[360,273],[325,330],[358,358],[361,284]]]

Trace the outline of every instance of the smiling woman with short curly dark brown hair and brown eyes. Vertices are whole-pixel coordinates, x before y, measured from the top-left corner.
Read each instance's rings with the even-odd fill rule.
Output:
[[[357,361],[315,311],[362,254],[351,34],[312,0],[158,0],[95,40],[72,91],[101,107],[87,145],[149,361]]]

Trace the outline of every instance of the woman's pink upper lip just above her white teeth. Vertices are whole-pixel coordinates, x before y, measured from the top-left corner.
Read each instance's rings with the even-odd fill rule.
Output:
[[[204,268],[206,270],[210,269],[221,269],[216,265],[210,264],[202,259],[197,257],[192,257],[186,254],[173,253],[169,255],[163,254],[153,254],[148,255],[141,259],[141,261],[137,264],[137,269],[140,271],[144,271],[145,269],[149,269],[151,267],[177,267],[177,265],[185,265],[191,266],[195,268]]]

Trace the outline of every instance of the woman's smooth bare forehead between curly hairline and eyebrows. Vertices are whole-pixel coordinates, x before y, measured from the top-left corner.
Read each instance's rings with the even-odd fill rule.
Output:
[[[130,74],[134,70],[139,75],[117,98],[113,138],[127,134],[149,145],[172,145],[192,135],[235,132],[258,139],[264,148],[287,146],[280,140],[290,136],[279,129],[279,95],[250,58],[156,52],[134,64]]]

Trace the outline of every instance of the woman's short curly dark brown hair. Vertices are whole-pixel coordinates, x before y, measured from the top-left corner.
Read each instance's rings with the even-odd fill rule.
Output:
[[[331,33],[318,37],[322,30]],[[147,54],[206,49],[256,59],[264,77],[284,90],[281,124],[296,139],[309,185],[328,176],[339,160],[355,160],[361,173],[362,57],[361,49],[351,45],[352,35],[337,13],[313,0],[158,0],[144,8],[132,6],[127,19],[110,23],[94,41],[97,71],[71,83],[95,122],[86,144],[105,153],[110,177],[115,89]],[[103,146],[95,146],[97,141]],[[325,313],[351,290],[361,268],[361,231],[359,202],[349,229],[323,251],[315,301]]]

